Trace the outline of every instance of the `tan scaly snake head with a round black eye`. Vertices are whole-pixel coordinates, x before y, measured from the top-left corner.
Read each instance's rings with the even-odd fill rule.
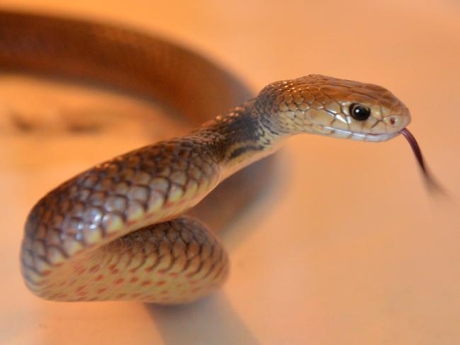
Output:
[[[406,105],[386,88],[318,74],[271,83],[254,108],[263,123],[287,135],[386,141],[410,122]]]

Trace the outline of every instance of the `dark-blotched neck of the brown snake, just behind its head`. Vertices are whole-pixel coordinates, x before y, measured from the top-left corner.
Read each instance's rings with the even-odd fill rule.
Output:
[[[221,179],[274,153],[283,135],[266,121],[249,100],[205,123],[196,134],[214,143],[214,152],[221,162]]]

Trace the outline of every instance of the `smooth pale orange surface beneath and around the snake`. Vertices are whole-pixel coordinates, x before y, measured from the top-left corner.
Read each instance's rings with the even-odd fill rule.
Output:
[[[402,137],[299,136],[282,151],[276,188],[224,233],[232,269],[221,291],[174,308],[52,303],[32,296],[19,274],[28,210],[65,178],[146,137],[96,143],[56,129],[34,141],[2,131],[1,344],[460,344],[458,1],[42,0],[21,8],[160,33],[255,89],[310,73],[385,86],[410,108],[409,128],[454,203],[430,199]],[[0,107],[12,102],[1,84]],[[149,113],[120,95],[83,95],[91,102],[75,105],[63,94],[79,111]]]

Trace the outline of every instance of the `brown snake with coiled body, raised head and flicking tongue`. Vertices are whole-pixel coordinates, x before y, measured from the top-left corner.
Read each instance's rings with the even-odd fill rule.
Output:
[[[269,156],[289,137],[411,137],[408,107],[381,86],[309,74],[254,97],[188,49],[105,23],[0,11],[0,68],[159,99],[196,124],[71,177],[33,206],[21,272],[46,300],[168,305],[207,296],[226,280],[229,257],[193,210],[210,200],[205,214],[232,218],[265,188]]]

